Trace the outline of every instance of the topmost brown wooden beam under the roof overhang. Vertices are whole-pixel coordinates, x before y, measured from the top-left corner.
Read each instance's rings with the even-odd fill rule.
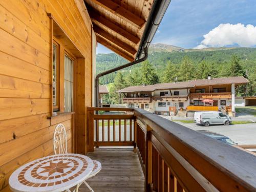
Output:
[[[111,0],[91,0],[95,4],[103,7],[104,9],[110,11],[111,13],[121,17],[122,19],[126,20],[126,22],[135,25],[139,29],[145,24],[145,20],[134,13],[124,9],[120,5],[112,2]]]

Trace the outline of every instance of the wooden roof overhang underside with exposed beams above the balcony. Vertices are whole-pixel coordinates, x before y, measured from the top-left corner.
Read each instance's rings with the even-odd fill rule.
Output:
[[[84,0],[97,42],[133,61],[154,0]]]

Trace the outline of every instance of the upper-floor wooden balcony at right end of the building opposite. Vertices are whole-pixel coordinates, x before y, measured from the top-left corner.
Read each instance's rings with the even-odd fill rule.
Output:
[[[190,99],[231,99],[231,92],[225,93],[190,93]]]

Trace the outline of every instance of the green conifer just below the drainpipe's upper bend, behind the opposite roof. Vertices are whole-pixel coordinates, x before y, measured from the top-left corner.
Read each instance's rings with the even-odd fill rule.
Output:
[[[143,84],[156,84],[159,82],[159,78],[148,60],[142,62],[140,68],[141,71],[141,82]]]

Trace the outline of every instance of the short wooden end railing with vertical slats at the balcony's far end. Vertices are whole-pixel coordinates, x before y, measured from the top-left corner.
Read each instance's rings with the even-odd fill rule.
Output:
[[[122,114],[96,114],[99,111]],[[94,146],[134,146],[134,115],[129,108],[88,108],[89,150]]]

